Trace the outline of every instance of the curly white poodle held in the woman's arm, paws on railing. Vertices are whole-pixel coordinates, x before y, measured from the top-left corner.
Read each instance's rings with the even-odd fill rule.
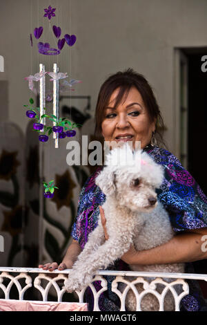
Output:
[[[116,259],[120,259],[131,244],[137,251],[141,251],[155,248],[172,239],[174,233],[168,213],[157,201],[155,192],[163,177],[163,167],[157,165],[146,152],[135,151],[134,154],[127,143],[110,151],[106,167],[95,180],[106,195],[102,207],[109,239],[105,241],[99,216],[97,228],[89,234],[88,242],[65,281],[68,292],[82,290],[90,284],[97,270],[107,268]],[[130,269],[146,272],[184,272],[184,264],[130,265]],[[148,281],[152,281],[152,278]],[[136,288],[139,293],[144,290],[143,284],[137,284]],[[161,293],[159,285],[157,289]],[[136,310],[137,303],[132,290],[126,298],[127,308]],[[166,295],[164,308],[175,308],[170,293]],[[157,298],[150,293],[145,295],[141,300],[141,309],[159,310]]]

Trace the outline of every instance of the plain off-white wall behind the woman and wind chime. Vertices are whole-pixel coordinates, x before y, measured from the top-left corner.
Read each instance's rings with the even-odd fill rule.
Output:
[[[134,68],[146,76],[155,91],[168,127],[166,141],[173,152],[173,48],[206,46],[207,1],[1,0],[0,55],[5,59],[5,72],[0,73],[0,80],[9,82],[9,118],[23,131],[27,119],[22,105],[31,95],[23,77],[37,72],[39,62],[51,66],[54,59],[38,55],[37,48],[31,52],[29,41],[34,27],[47,30],[48,19],[42,16],[43,8],[49,5],[57,8],[57,17],[51,19],[51,24],[61,26],[63,34],[77,36],[75,46],[66,45],[58,57],[62,72],[83,80],[74,93],[91,95],[94,113],[99,88],[106,77]],[[44,41],[49,41],[51,34],[47,31]],[[36,39],[34,43],[37,46]]]

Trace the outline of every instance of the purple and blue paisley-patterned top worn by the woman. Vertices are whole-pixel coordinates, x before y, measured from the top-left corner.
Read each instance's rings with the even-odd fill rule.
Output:
[[[174,232],[182,232],[196,228],[207,227],[207,198],[196,183],[193,176],[184,169],[179,160],[166,149],[148,145],[144,148],[157,164],[164,167],[164,181],[156,189],[159,201],[164,205],[170,216]],[[95,184],[95,178],[104,166],[97,167],[92,176],[86,180],[79,195],[77,218],[72,226],[72,237],[79,242],[81,248],[87,242],[88,234],[97,226],[99,205],[103,205],[106,196]],[[129,270],[128,265],[117,260],[108,270]],[[186,263],[187,273],[193,273],[193,264]],[[107,293],[102,293],[99,299],[100,310],[119,310],[119,297],[110,290],[115,277],[105,277],[108,281]],[[204,298],[197,281],[189,280],[190,293],[181,299],[181,310],[207,310]],[[100,282],[95,282],[96,290],[101,289]],[[93,308],[92,294],[87,290],[89,310]]]

